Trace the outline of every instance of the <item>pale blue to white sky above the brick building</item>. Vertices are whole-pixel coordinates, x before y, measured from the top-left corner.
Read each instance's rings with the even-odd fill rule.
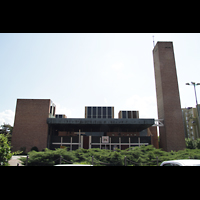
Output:
[[[152,36],[173,42],[181,107],[195,107],[185,83],[200,82],[199,33],[0,33],[0,124],[13,125],[18,98],[51,99],[68,118],[114,106],[157,119]]]

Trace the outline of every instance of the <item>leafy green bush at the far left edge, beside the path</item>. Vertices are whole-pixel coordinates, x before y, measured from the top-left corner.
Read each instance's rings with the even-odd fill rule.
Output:
[[[0,165],[8,166],[12,155],[7,136],[0,134]]]

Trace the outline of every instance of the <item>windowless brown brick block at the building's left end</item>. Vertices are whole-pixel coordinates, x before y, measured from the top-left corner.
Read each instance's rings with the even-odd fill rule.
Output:
[[[12,134],[12,151],[36,146],[39,151],[47,147],[50,99],[17,99]]]

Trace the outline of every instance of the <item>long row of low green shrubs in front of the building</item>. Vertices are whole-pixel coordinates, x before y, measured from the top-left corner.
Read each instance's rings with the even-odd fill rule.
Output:
[[[62,164],[67,164],[67,161],[72,163],[88,163],[95,166],[124,166],[124,158],[126,156],[127,166],[157,166],[166,160],[176,159],[200,159],[200,149],[185,149],[178,152],[165,152],[161,149],[155,149],[152,145],[131,147],[126,150],[117,149],[110,151],[105,149],[77,149],[75,151],[68,151],[65,149],[49,150],[45,149],[43,152],[31,151],[28,153],[29,166],[53,166],[60,163],[60,155],[64,160]],[[20,160],[25,165],[26,158],[22,157]]]

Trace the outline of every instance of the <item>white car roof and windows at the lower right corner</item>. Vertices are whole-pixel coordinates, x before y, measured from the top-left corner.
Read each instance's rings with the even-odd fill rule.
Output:
[[[162,162],[160,166],[200,166],[200,160],[197,159],[169,160]]]

